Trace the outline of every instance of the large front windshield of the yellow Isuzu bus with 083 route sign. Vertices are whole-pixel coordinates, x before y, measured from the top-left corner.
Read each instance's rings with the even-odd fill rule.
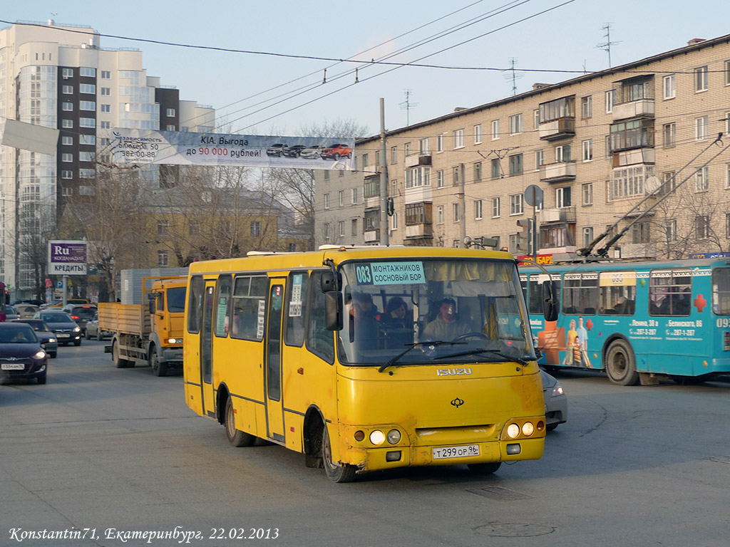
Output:
[[[345,319],[339,360],[534,360],[515,264],[504,260],[393,259],[342,264]]]

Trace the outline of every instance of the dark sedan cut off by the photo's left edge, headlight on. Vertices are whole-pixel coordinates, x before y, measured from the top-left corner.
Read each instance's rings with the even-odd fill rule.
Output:
[[[30,325],[0,323],[0,378],[28,378],[46,383],[48,355]]]

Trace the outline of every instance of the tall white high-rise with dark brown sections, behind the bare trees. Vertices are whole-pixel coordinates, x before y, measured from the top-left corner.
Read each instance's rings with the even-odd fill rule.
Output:
[[[103,49],[92,28],[53,20],[0,30],[0,118],[61,132],[56,155],[0,146],[0,280],[15,295],[43,281],[46,240],[64,200],[94,192],[96,162],[110,158],[97,130],[215,126],[212,107],[180,101],[176,88],[147,76],[141,51]],[[145,176],[161,184],[157,168]]]

